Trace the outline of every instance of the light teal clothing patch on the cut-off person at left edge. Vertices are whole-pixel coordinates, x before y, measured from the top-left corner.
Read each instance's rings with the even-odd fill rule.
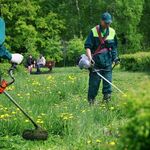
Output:
[[[5,41],[5,21],[0,17],[0,45]]]

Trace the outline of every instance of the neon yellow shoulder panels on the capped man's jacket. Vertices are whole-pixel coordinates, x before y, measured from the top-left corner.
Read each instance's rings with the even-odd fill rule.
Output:
[[[94,27],[92,29],[92,32],[93,32],[93,36],[94,37],[98,37],[98,33],[97,33],[96,27]],[[116,35],[115,30],[113,28],[109,27],[109,35],[106,37],[106,40],[114,40],[115,35]],[[103,34],[102,34],[102,37],[103,37]]]

